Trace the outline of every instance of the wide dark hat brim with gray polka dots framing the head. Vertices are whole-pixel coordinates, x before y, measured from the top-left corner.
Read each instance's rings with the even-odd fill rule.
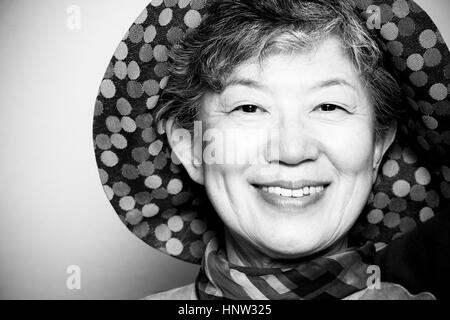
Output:
[[[207,0],[153,0],[126,32],[95,103],[93,138],[100,181],[123,223],[150,246],[199,263],[220,230],[204,190],[173,156],[152,109],[168,81],[170,47],[195,29]],[[447,209],[450,200],[449,51],[413,1],[354,0],[381,13],[372,32],[398,71],[408,117],[380,167],[353,241],[378,245]]]

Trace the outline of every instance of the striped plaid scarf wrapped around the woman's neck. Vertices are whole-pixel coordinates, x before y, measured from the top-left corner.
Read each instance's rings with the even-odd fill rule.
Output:
[[[200,300],[342,299],[367,287],[374,257],[375,246],[368,242],[288,268],[242,267],[228,262],[213,239],[195,288]]]

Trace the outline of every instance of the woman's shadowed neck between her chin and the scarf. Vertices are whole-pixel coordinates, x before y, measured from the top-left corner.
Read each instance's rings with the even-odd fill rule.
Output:
[[[344,237],[330,247],[307,256],[274,258],[242,239],[242,237],[232,234],[229,230],[225,230],[225,243],[227,258],[230,263],[242,267],[256,268],[288,268],[298,265],[302,261],[318,256],[331,255],[347,248],[347,238]]]

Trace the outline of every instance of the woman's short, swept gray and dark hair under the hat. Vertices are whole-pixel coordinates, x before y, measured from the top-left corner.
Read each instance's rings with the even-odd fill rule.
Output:
[[[384,132],[402,114],[401,89],[381,42],[349,1],[212,1],[199,27],[169,53],[170,78],[154,111],[155,121],[174,117],[191,130],[204,94],[221,92],[242,63],[305,50],[337,36],[372,98],[376,133]]]

